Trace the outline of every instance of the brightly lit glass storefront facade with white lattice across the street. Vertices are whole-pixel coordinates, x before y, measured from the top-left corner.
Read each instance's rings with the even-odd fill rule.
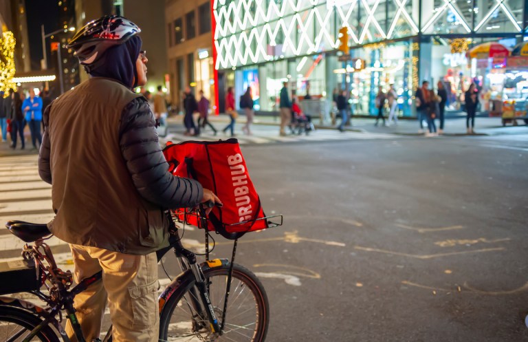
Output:
[[[472,81],[493,87],[489,63],[468,60],[467,50],[485,41],[511,47],[528,24],[518,0],[214,0],[213,8],[214,66],[232,74],[225,86],[236,95],[258,87],[261,111],[277,110],[288,81],[292,95],[302,98],[309,86],[327,103],[347,89],[353,112],[372,115],[378,87],[393,84],[400,114],[412,116],[422,80],[434,88],[443,81],[457,110]],[[338,56],[340,28],[348,30],[349,58]],[[358,58],[361,68],[353,65]]]

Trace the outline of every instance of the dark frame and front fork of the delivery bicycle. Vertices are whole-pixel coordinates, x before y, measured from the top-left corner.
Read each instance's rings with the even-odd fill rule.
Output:
[[[203,275],[202,269],[222,266],[228,264],[228,259],[214,259],[212,261],[206,261],[204,263],[198,264],[195,253],[192,253],[190,250],[184,248],[179,240],[177,235],[177,227],[175,226],[172,217],[169,216],[170,222],[170,246],[163,248],[157,252],[157,259],[161,259],[168,250],[174,250],[175,256],[178,259],[179,266],[182,270],[182,273],[176,277],[167,288],[164,290],[162,295],[159,296],[159,314],[163,312],[164,304],[170,296],[175,293],[177,288],[181,284],[186,282],[186,279],[192,279],[195,281],[196,287],[192,288],[190,291],[192,293],[192,306],[196,310],[195,312],[205,311],[210,322],[212,332],[217,334],[222,334],[222,326],[219,324],[219,321],[214,313],[214,308],[210,302],[208,295],[208,285],[206,284],[206,278]],[[43,248],[41,252],[40,248]],[[47,303],[46,308],[41,308],[36,306],[33,303],[28,301],[23,301],[21,299],[15,299],[12,297],[0,297],[0,306],[11,306],[18,308],[20,310],[29,311],[32,314],[42,318],[43,320],[39,325],[37,325],[28,336],[25,337],[23,342],[30,341],[34,338],[39,332],[48,325],[53,325],[54,328],[61,335],[63,341],[69,342],[69,338],[61,325],[63,320],[62,312],[66,312],[66,317],[69,319],[72,324],[72,329],[76,334],[76,339],[79,342],[87,342],[85,336],[83,336],[83,330],[80,327],[80,323],[76,317],[76,310],[74,308],[74,297],[80,292],[83,292],[90,286],[102,279],[102,271],[97,272],[91,277],[85,278],[80,283],[71,290],[69,286],[72,284],[72,275],[71,272],[63,272],[60,268],[57,268],[56,262],[54,260],[52,251],[47,244],[45,244],[44,239],[38,239],[34,242],[34,245],[25,244],[23,248],[23,256],[25,258],[33,257],[36,261],[39,273],[41,275],[41,284],[45,285],[47,290],[50,292],[48,295],[41,292],[41,290],[30,291],[39,299],[42,299]],[[46,261],[46,266],[43,261]],[[46,281],[50,281],[50,284],[47,284]],[[58,319],[56,318],[58,316]],[[19,336],[17,336],[17,334]],[[17,339],[23,334],[23,331],[18,332],[13,339]],[[104,338],[104,341],[109,339],[111,334],[111,328],[107,333],[107,336]],[[91,341],[90,341],[91,342]]]

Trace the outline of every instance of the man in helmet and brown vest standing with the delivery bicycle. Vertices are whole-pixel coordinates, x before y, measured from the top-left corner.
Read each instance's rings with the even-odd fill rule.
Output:
[[[168,171],[155,117],[132,91],[146,83],[139,32],[118,16],[81,28],[68,48],[91,77],[44,112],[39,175],[52,184],[55,213],[47,226],[69,243],[77,284],[102,272],[75,297],[86,341],[100,336],[107,302],[113,341],[158,341],[155,251],[168,246],[164,209],[219,203],[199,182]],[[66,333],[77,341],[70,319]]]

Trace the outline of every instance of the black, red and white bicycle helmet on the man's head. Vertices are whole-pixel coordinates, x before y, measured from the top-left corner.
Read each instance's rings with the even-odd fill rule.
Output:
[[[79,58],[86,72],[104,63],[104,52],[109,47],[120,45],[141,29],[135,23],[117,15],[107,15],[90,21],[78,30],[68,48],[75,50],[74,56]]]

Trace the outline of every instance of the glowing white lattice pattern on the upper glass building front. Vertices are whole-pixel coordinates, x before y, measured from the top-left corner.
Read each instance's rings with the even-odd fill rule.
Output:
[[[334,50],[339,46],[335,30],[346,27],[355,45],[395,38],[398,25],[408,25],[410,36],[419,32],[408,13],[412,0],[392,0],[396,8],[384,32],[376,19],[384,10],[382,0],[214,0],[214,45],[217,69],[273,61],[282,57],[302,56]],[[442,0],[421,32],[428,32],[446,11],[452,12],[466,32],[470,24],[456,6],[456,0]],[[489,13],[476,25],[478,31],[496,10],[505,12],[514,28],[521,32],[506,0],[494,0]],[[362,18],[358,25],[358,10]],[[336,18],[336,23],[334,23]]]

